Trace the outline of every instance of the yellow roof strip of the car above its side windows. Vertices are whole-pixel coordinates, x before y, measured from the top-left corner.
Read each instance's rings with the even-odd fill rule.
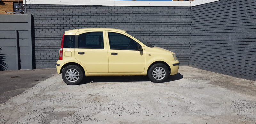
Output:
[[[107,31],[117,31],[117,32],[126,32],[121,29],[115,29],[115,28],[81,28],[81,29],[74,29],[74,30],[68,30],[65,32],[65,35],[75,35],[76,32],[79,31],[96,31],[96,30],[107,30]]]

